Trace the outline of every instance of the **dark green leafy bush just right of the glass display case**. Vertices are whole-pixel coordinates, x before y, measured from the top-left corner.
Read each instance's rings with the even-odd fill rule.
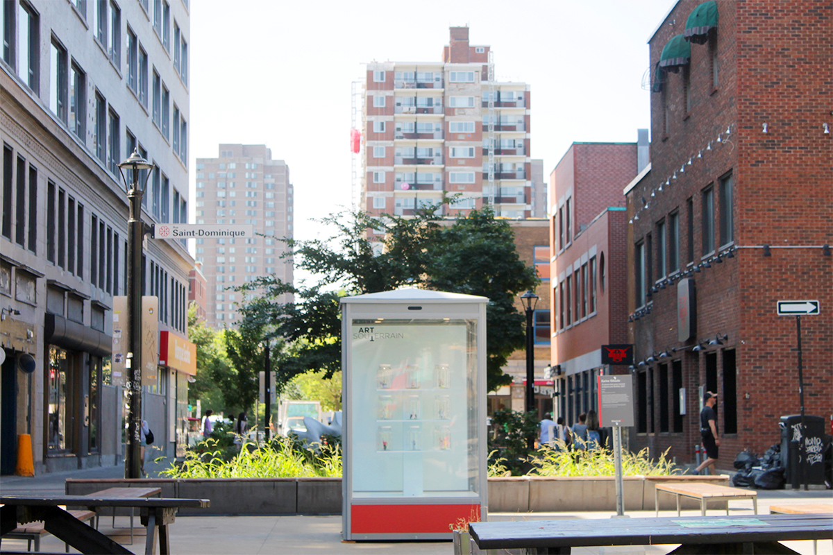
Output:
[[[496,410],[491,415],[493,434],[489,435],[489,466],[504,468],[512,476],[522,476],[529,469],[534,450],[528,447],[529,439],[538,437],[538,419],[535,411],[515,412],[511,409]]]

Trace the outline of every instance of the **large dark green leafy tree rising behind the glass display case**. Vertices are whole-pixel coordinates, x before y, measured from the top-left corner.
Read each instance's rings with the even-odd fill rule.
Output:
[[[487,388],[511,382],[501,367],[512,351],[524,346],[524,317],[513,300],[537,284],[535,270],[518,258],[511,227],[496,220],[490,209],[471,211],[453,222],[443,221],[435,210],[417,210],[412,218],[366,212],[327,216],[321,223],[336,230],[328,240],[287,240],[297,268],[320,276],[316,285],[295,287],[266,276],[238,288],[262,291],[242,307],[243,320],[270,323],[274,334],[287,341],[277,369],[279,383],[319,370],[329,378],[341,369],[340,296],[402,285],[488,297]],[[381,232],[383,239],[370,240],[376,235],[368,230]],[[297,301],[278,303],[285,293],[296,295]]]

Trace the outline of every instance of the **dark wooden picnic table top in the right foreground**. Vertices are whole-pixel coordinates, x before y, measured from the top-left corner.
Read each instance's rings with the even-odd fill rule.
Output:
[[[571,548],[681,543],[671,553],[795,553],[779,541],[833,539],[831,518],[820,514],[527,520],[470,523],[478,548],[526,548],[527,553],[571,553]]]

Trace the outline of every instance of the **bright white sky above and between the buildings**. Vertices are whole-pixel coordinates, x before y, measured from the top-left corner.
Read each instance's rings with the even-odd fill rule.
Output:
[[[265,143],[290,167],[295,237],[316,237],[310,219],[351,201],[361,64],[439,62],[448,27],[467,24],[498,80],[531,85],[531,157],[548,181],[571,142],[636,141],[650,127],[646,42],[673,3],[192,0],[190,167],[221,142]]]

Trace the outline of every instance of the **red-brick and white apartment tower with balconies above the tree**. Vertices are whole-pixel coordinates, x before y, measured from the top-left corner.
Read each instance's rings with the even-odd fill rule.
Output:
[[[496,82],[490,47],[468,32],[451,27],[441,62],[367,64],[360,206],[371,214],[409,216],[445,192],[460,194],[449,216],[488,205],[531,216],[530,87]]]

